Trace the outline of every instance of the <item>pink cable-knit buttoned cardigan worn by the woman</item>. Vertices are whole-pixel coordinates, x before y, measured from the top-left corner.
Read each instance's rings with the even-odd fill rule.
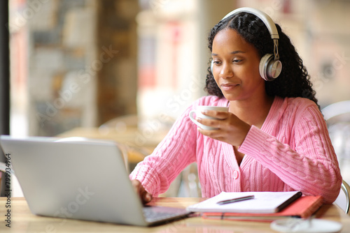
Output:
[[[305,98],[274,98],[261,129],[251,126],[237,164],[232,145],[197,131],[188,117],[197,105],[227,106],[228,100],[205,96],[174,123],[167,137],[135,167],[138,179],[154,197],[164,193],[176,176],[197,162],[203,197],[221,191],[290,191],[321,195],[331,203],[342,183],[327,126],[314,102]]]

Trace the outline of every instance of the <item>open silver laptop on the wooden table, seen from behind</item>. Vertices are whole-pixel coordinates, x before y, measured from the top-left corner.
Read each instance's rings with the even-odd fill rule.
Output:
[[[32,213],[149,226],[185,218],[181,208],[144,206],[116,143],[1,135]]]

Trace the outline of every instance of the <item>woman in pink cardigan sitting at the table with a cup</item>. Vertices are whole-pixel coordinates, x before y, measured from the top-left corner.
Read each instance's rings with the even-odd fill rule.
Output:
[[[281,74],[262,79],[260,59],[274,51],[260,17],[241,12],[211,29],[204,96],[183,112],[151,156],[130,179],[144,202],[164,193],[176,176],[197,162],[203,197],[222,191],[290,191],[322,195],[332,203],[342,176],[328,130],[302,59],[288,36],[279,33]],[[276,55],[276,52],[275,52]],[[228,106],[197,119],[218,130],[203,130],[188,113],[198,105]]]

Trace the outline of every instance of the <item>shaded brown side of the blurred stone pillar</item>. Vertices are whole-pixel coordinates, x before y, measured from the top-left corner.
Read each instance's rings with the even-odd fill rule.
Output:
[[[97,1],[97,125],[137,114],[137,0]]]

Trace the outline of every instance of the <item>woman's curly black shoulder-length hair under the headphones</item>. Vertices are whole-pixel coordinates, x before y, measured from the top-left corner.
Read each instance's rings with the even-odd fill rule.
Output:
[[[216,34],[226,28],[234,29],[248,43],[253,45],[260,55],[273,54],[274,43],[269,31],[259,17],[251,13],[238,13],[221,20],[211,29],[208,41],[209,50],[212,52],[213,40]],[[282,63],[282,71],[279,77],[270,82],[265,82],[265,90],[269,96],[304,97],[313,100],[318,105],[316,92],[312,89],[309,74],[302,63],[302,59],[295,50],[290,38],[283,33],[279,24],[276,24],[279,32],[279,60]],[[223,93],[214,80],[210,69],[211,59],[206,80],[205,90],[214,96],[223,98]],[[319,107],[319,105],[318,105]]]

